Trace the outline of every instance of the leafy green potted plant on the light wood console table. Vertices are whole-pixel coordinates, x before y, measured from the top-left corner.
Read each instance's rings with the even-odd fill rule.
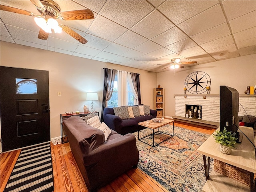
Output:
[[[236,144],[236,134],[227,131],[226,127],[224,127],[223,131],[217,130],[213,137],[215,142],[220,144],[220,152],[229,155]]]

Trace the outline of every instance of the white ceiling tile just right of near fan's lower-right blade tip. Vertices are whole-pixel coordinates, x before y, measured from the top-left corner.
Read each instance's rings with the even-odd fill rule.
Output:
[[[103,50],[104,48],[106,48],[108,45],[111,44],[111,42],[108,40],[96,37],[88,33],[84,38],[88,40],[88,42],[86,43],[86,46],[99,49],[99,50]]]

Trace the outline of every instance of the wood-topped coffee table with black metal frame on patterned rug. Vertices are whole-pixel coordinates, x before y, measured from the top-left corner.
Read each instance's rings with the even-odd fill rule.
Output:
[[[172,135],[171,135],[171,134],[168,134],[168,133],[165,133],[165,132],[161,132],[161,131],[159,130],[159,128],[161,128],[161,127],[163,127],[163,126],[165,126],[165,125],[168,125],[168,124],[170,124],[170,123],[172,123]],[[138,140],[141,141],[141,142],[144,142],[144,141],[142,141],[143,138],[146,138],[146,137],[148,137],[148,136],[153,135],[153,145],[150,145],[150,144],[144,142],[145,144],[148,144],[149,146],[152,146],[152,147],[155,147],[155,146],[159,145],[160,143],[162,143],[162,142],[168,140],[169,138],[172,138],[173,135],[174,135],[174,120],[164,119],[162,122],[159,122],[159,123],[152,122],[152,120],[150,120],[150,123],[149,123],[149,124],[147,124],[146,121],[143,121],[143,122],[139,122],[138,125],[141,125],[141,126],[144,126],[145,128],[150,128],[150,129],[153,130],[153,133],[152,133],[152,134],[146,135],[146,136],[144,136],[144,137],[142,137],[142,138],[140,138],[140,131],[138,131]],[[158,129],[158,130],[155,131],[156,129]],[[167,139],[165,139],[165,140],[163,140],[162,142],[160,142],[160,143],[158,143],[158,144],[155,145],[155,144],[154,144],[154,134],[157,133],[157,132],[161,132],[162,134],[170,135],[170,137],[168,137]]]

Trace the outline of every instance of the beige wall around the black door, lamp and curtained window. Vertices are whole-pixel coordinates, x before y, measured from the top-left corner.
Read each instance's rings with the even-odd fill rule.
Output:
[[[98,92],[94,110],[101,111],[103,68],[139,73],[142,104],[153,108],[156,73],[2,41],[0,51],[1,66],[49,71],[51,138],[60,136],[60,114],[83,111],[84,104],[91,106],[87,92]]]

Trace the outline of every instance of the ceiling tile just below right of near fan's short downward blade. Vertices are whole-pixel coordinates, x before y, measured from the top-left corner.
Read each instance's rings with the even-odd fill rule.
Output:
[[[48,37],[48,46],[74,52],[78,44],[57,38]]]

